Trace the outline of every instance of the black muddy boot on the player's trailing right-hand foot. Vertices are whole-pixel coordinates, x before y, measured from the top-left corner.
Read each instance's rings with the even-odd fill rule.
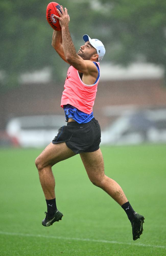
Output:
[[[137,212],[133,213],[134,218],[132,219],[132,232],[133,232],[133,240],[137,240],[140,238],[140,235],[143,232],[143,223],[144,223],[144,216],[138,214]]]

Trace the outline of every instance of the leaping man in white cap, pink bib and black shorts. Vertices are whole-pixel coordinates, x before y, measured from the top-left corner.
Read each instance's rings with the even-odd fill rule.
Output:
[[[76,53],[71,39],[67,9],[61,6],[60,22],[62,31],[54,31],[52,46],[60,57],[69,63],[61,107],[64,108],[67,126],[59,129],[58,134],[37,157],[35,164],[39,171],[40,183],[45,195],[47,212],[43,226],[50,226],[62,219],[55,200],[55,179],[51,167],[69,157],[80,154],[91,182],[102,188],[125,210],[132,223],[133,240],[143,231],[144,217],[133,210],[122,188],[104,174],[104,163],[100,144],[100,125],[94,118],[92,106],[100,77],[100,64],[105,48],[98,39],[84,35],[85,44]]]

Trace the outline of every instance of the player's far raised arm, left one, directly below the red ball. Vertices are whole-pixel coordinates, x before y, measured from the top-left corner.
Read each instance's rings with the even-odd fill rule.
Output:
[[[63,51],[63,45],[62,45],[62,31],[55,31],[53,32],[52,36],[52,46],[56,50],[56,52],[59,54],[59,56],[68,63],[68,61],[65,58],[65,54]]]

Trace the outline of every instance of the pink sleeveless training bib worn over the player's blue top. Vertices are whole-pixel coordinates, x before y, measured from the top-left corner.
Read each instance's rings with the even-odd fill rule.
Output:
[[[99,62],[96,63],[100,69]],[[73,66],[70,66],[67,71],[64,91],[62,93],[61,107],[63,108],[63,105],[70,104],[80,111],[90,114],[96,98],[98,83],[99,79],[95,84],[92,85],[83,83],[79,76],[78,70]]]

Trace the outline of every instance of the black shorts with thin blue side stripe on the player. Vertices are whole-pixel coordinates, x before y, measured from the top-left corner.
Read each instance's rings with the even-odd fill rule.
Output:
[[[60,142],[66,142],[76,154],[96,151],[101,142],[100,125],[95,118],[83,124],[69,122],[58,130],[52,141],[53,144]]]

